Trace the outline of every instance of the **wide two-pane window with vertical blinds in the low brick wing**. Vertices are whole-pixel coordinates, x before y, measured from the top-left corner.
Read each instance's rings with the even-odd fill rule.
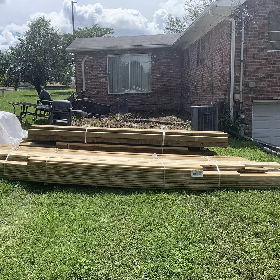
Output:
[[[150,54],[108,56],[107,63],[109,93],[152,91]]]

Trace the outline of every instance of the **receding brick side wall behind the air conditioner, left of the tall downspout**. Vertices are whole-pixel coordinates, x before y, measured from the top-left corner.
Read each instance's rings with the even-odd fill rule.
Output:
[[[206,38],[205,63],[198,66],[198,41],[189,46],[190,65],[187,49],[184,54],[182,71],[184,108],[211,105],[226,100],[230,90],[231,25],[220,23],[203,37]]]

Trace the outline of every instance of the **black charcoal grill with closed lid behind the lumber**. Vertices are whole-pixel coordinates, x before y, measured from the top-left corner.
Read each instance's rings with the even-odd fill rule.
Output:
[[[52,103],[50,124],[71,126],[72,104],[68,100],[54,100]]]

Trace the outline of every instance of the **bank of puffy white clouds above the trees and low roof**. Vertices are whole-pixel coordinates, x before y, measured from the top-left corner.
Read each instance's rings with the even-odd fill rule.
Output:
[[[4,3],[5,0],[0,0]],[[153,20],[149,21],[138,10],[135,9],[106,9],[100,3],[93,5],[74,4],[76,14],[75,27],[90,27],[92,24],[98,24],[100,27],[112,27],[116,31],[115,35],[140,35],[140,34],[158,34],[163,33],[162,29],[166,21],[168,12],[179,17],[184,15],[185,0],[167,0],[161,2],[159,9],[154,12]],[[40,15],[45,15],[51,20],[54,26],[57,26],[62,32],[72,31],[72,12],[71,1],[64,0],[62,10],[50,13],[36,12],[30,15],[30,20]],[[30,21],[28,21],[30,22]],[[23,34],[28,29],[27,23],[17,25],[14,23],[0,26],[0,49],[7,49],[9,45],[1,44],[17,40],[17,32]],[[120,32],[120,33],[118,33]]]

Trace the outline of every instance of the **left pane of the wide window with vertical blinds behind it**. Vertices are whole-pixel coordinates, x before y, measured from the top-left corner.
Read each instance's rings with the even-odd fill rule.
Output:
[[[109,93],[129,92],[129,56],[108,57]]]

